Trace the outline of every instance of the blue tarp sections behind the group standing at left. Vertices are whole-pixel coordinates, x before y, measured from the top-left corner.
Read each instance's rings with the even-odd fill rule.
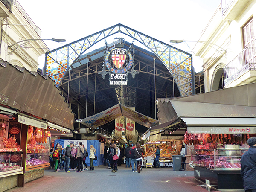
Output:
[[[54,148],[59,143],[60,145],[64,146],[64,141],[65,140],[54,140]],[[87,140],[87,151],[88,154],[90,155],[90,145],[93,145],[94,148],[96,149],[96,156],[97,160],[93,161],[94,166],[99,166],[102,165],[103,162],[103,154],[100,154],[100,142],[99,140]],[[87,166],[90,166],[90,158],[89,156],[85,159],[85,163]]]

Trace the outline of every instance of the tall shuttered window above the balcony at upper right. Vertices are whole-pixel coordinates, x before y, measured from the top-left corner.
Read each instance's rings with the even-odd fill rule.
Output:
[[[244,57],[246,63],[256,63],[255,35],[253,30],[253,18],[243,26]]]

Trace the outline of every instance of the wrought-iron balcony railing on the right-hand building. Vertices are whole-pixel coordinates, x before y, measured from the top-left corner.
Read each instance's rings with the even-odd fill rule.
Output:
[[[246,47],[224,67],[225,85],[230,84],[249,70],[256,70],[256,47]]]

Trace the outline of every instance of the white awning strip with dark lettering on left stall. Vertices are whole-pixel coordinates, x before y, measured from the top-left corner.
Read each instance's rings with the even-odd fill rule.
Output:
[[[46,122],[41,119],[36,119],[35,117],[30,117],[23,113],[18,113],[18,118],[19,123],[30,125],[37,128],[47,129]]]

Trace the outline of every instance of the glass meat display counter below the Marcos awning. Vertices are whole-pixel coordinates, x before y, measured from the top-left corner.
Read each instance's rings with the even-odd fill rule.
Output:
[[[214,170],[240,170],[241,156],[248,149],[193,149],[191,164]]]

